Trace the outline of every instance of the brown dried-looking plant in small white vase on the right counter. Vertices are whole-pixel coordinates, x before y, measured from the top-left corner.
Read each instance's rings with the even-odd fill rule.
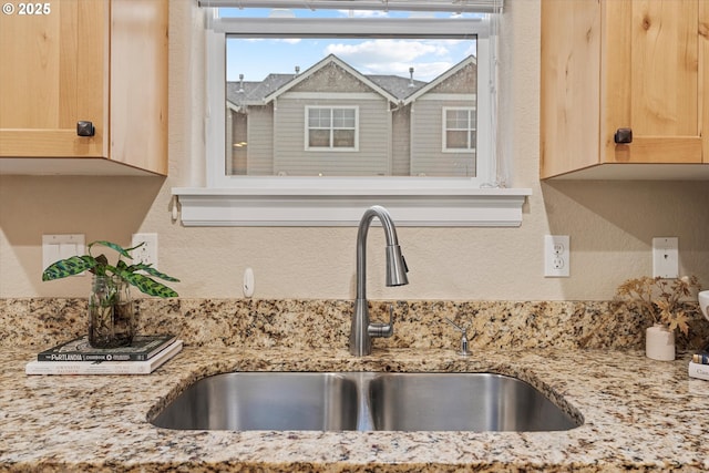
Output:
[[[675,359],[675,330],[689,333],[689,313],[685,302],[700,289],[696,276],[665,279],[644,276],[618,286],[617,297],[629,308],[647,316],[653,326],[646,330],[645,353],[660,361]]]

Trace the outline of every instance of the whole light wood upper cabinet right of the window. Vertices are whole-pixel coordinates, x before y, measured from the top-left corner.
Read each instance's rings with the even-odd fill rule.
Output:
[[[709,1],[542,0],[541,177],[709,179]]]

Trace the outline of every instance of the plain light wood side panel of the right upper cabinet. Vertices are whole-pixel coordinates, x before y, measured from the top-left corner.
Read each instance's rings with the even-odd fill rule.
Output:
[[[592,167],[600,156],[600,4],[542,1],[540,174]]]

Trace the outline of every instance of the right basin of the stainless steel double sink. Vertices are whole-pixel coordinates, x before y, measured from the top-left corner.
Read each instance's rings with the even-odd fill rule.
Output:
[[[376,430],[555,431],[578,424],[531,384],[492,373],[391,373],[369,387]]]

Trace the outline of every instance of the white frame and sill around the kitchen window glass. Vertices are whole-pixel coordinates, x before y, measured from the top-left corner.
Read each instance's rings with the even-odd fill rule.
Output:
[[[315,20],[321,34],[361,33],[350,19]],[[205,31],[207,111],[206,186],[175,187],[185,226],[357,225],[370,205],[389,208],[405,226],[520,226],[530,188],[489,188],[495,181],[492,140],[479,140],[477,177],[295,177],[228,176],[225,172],[226,33],[284,35],[312,32],[314,19],[218,19]],[[489,25],[482,20],[369,20],[372,32],[477,34],[477,133],[492,133]],[[444,27],[442,27],[444,24]],[[442,28],[444,28],[442,30]],[[451,31],[455,30],[455,31]],[[484,158],[482,158],[484,157]]]

